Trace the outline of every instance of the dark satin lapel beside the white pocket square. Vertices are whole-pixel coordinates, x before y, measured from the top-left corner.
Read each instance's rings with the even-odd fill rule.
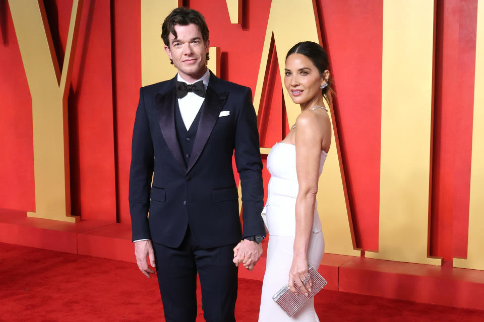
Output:
[[[210,79],[212,82],[212,78]],[[195,137],[195,142],[193,143],[192,155],[188,162],[187,173],[193,168],[197,162],[200,154],[202,154],[205,144],[207,144],[208,138],[212,133],[213,127],[218,120],[220,111],[225,105],[227,100],[227,92],[217,93],[210,85],[207,87],[207,92],[205,94],[205,101],[202,106],[202,111],[200,115],[200,122],[198,124],[197,136]]]

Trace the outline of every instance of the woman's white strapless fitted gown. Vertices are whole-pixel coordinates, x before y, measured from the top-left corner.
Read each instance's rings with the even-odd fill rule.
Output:
[[[321,151],[319,174],[323,170],[326,152]],[[273,300],[274,295],[289,280],[295,235],[295,204],[299,185],[296,174],[295,145],[276,143],[267,157],[271,174],[268,186],[264,222],[269,230],[266,272],[262,284],[259,322],[319,321],[311,299],[297,314],[289,317]],[[308,249],[308,261],[317,269],[324,254],[324,237],[318,205],[314,207],[314,221]]]

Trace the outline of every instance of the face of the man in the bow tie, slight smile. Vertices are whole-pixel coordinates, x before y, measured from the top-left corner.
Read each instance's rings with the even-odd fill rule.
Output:
[[[165,46],[165,51],[173,60],[173,65],[178,69],[181,78],[187,82],[195,82],[203,76],[207,60],[210,40],[203,42],[202,33],[195,24],[187,26],[174,26],[176,38],[170,33],[170,46]]]

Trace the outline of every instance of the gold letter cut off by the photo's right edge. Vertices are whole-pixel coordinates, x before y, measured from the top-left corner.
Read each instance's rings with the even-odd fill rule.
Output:
[[[469,236],[467,259],[454,259],[454,267],[484,270],[484,1],[477,3],[475,45],[474,119],[470,169]]]

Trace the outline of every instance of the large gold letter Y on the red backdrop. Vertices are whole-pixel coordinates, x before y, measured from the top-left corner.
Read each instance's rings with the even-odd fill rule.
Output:
[[[62,72],[42,1],[10,1],[10,12],[32,96],[35,212],[30,217],[75,222],[70,216],[67,95],[82,0],[72,5]]]

